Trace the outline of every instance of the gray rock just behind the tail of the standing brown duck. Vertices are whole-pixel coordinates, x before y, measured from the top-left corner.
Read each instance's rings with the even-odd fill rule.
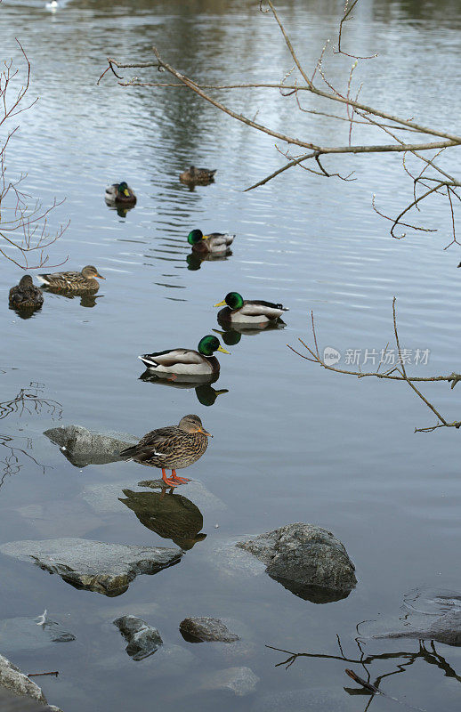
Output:
[[[139,441],[135,435],[127,433],[98,433],[87,430],[82,425],[66,425],[45,430],[44,435],[56,445],[69,462],[76,467],[86,465],[106,465],[117,462],[121,450]]]

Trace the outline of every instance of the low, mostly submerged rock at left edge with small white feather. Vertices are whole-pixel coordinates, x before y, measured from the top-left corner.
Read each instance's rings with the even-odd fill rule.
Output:
[[[4,652],[37,651],[75,639],[75,635],[51,619],[46,619],[43,625],[26,617],[0,620],[0,650]]]

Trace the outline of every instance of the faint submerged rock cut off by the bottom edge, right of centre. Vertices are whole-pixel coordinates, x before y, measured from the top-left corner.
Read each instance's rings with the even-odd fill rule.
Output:
[[[251,712],[347,712],[352,709],[350,700],[322,687],[284,692],[266,692],[250,708]]]

